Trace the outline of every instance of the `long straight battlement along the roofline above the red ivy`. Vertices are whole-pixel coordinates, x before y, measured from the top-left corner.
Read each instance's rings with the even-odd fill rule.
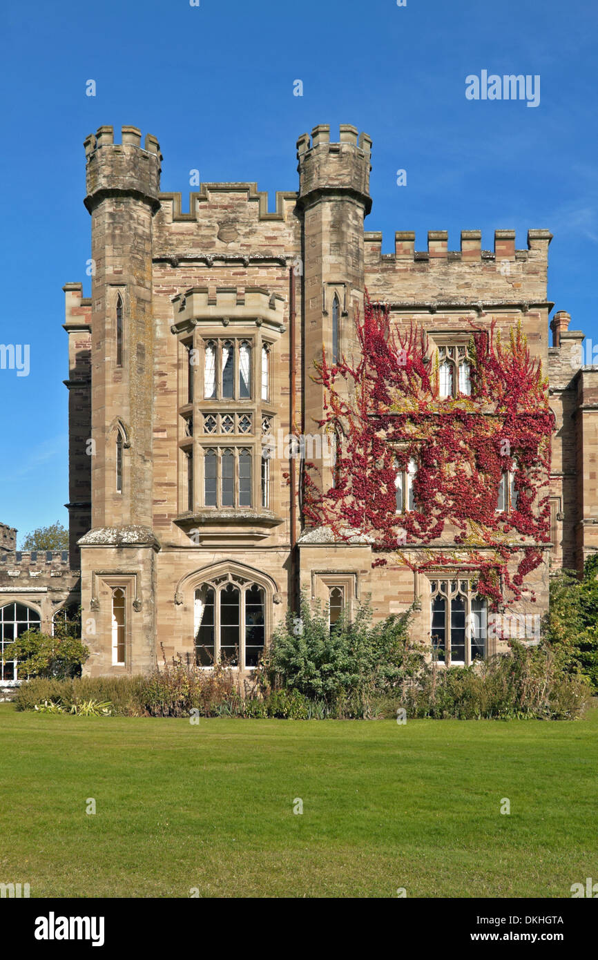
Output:
[[[552,240],[552,233],[545,229],[530,229],[527,232],[527,250],[515,249],[515,231],[514,230],[494,230],[494,249],[493,251],[482,250],[482,231],[481,230],[462,230],[461,231],[461,250],[448,250],[448,231],[447,230],[428,230],[428,249],[427,251],[416,251],[416,234],[413,230],[397,230],[395,232],[395,252],[382,253],[382,233],[379,231],[368,231],[365,234],[366,243],[366,262],[369,265],[375,263],[396,263],[397,267],[403,265],[403,261],[428,261],[435,260],[451,262],[481,262],[483,260],[513,260],[526,262],[528,260],[547,261],[548,245]]]

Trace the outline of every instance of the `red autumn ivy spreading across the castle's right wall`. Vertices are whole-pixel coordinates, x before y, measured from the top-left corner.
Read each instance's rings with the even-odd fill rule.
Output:
[[[388,308],[366,298],[356,340],[354,364],[343,357],[331,366],[323,351],[317,366],[324,388],[320,426],[338,432],[341,444],[330,489],[322,491],[316,467],[305,465],[306,524],[327,525],[338,540],[356,530],[368,535],[374,566],[393,553],[412,569],[468,569],[492,607],[506,588],[519,599],[525,576],[541,563],[538,544],[549,540],[544,490],[554,422],[541,365],[520,326],[503,344],[494,321],[486,329],[471,324],[471,394],[445,399],[419,325],[405,333],[391,329]],[[396,472],[411,458],[418,465],[416,509],[396,514]],[[515,461],[516,508],[498,513],[501,475]],[[459,556],[429,549],[435,542],[454,544]],[[410,550],[416,545],[428,548]]]

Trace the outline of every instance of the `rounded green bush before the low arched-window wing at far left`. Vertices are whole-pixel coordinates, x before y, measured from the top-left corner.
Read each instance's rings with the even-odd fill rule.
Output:
[[[30,677],[54,677],[65,680],[80,677],[89,650],[76,636],[50,636],[27,630],[4,648],[5,662],[17,660],[18,671]]]

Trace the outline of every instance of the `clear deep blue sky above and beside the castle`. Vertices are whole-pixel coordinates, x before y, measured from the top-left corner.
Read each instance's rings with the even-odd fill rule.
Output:
[[[366,228],[549,228],[549,299],[598,342],[596,0],[82,0],[5,5],[0,343],[31,371],[0,370],[0,520],[60,519],[67,488],[63,294],[90,256],[87,133],[157,136],[162,189],[256,180],[297,188],[300,133],[351,123],[373,139]],[[540,103],[468,101],[466,76],[540,76]],[[85,96],[95,80],[97,95]],[[303,82],[303,96],[293,82]],[[396,185],[396,170],[407,185]],[[186,205],[184,207],[187,208]]]

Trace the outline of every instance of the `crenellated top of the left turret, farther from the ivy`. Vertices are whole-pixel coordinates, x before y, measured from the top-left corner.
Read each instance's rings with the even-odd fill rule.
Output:
[[[132,196],[157,209],[160,189],[160,148],[148,133],[141,147],[137,127],[122,128],[122,143],[114,143],[112,127],[100,127],[84,140],[87,196],[84,204],[92,211],[107,196]]]

